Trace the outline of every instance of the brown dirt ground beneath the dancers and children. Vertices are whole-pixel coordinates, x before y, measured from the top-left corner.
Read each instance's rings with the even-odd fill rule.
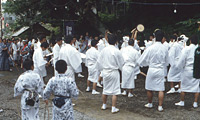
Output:
[[[146,72],[146,69],[142,71]],[[20,120],[20,97],[13,97],[13,87],[16,79],[23,71],[17,71],[13,68],[13,72],[0,71],[0,120]],[[52,77],[53,70],[48,68],[47,79]],[[200,120],[200,108],[192,108],[193,94],[186,94],[185,107],[177,107],[175,102],[179,101],[180,95],[177,94],[165,94],[164,99],[164,111],[158,112],[158,94],[154,94],[152,109],[147,109],[144,104],[147,103],[146,91],[144,89],[145,78],[141,75],[135,81],[136,88],[134,89],[135,96],[128,98],[127,96],[119,96],[117,107],[120,108],[120,112],[117,114],[111,114],[111,97],[108,97],[108,109],[101,110],[102,100],[101,95],[92,95],[91,92],[85,92],[87,69],[83,67],[84,78],[77,78],[76,83],[80,89],[79,99],[73,102],[76,104],[74,109],[82,116],[76,116],[77,120],[89,120],[89,118],[96,120]],[[101,88],[97,88],[102,92]],[[169,84],[166,83],[166,91],[169,90]],[[51,103],[51,102],[50,102]],[[52,106],[51,104],[49,105]],[[40,115],[43,120],[42,114],[44,113],[44,103],[41,101]],[[51,113],[51,111],[50,111]],[[51,114],[50,114],[51,115]],[[87,117],[85,117],[87,116]],[[88,117],[89,116],[89,117]]]

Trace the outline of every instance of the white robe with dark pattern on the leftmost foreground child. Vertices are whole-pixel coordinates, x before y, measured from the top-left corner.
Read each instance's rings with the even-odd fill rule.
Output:
[[[43,94],[44,83],[40,76],[32,70],[26,71],[19,76],[14,87],[14,97],[21,95],[22,120],[39,120],[39,96]],[[31,94],[29,91],[36,92],[36,102],[34,106],[26,105],[25,99]]]

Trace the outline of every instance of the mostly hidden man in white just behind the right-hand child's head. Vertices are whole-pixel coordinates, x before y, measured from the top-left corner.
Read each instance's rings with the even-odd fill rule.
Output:
[[[62,38],[57,38],[56,39],[56,44],[54,45],[53,47],[53,66],[54,66],[54,76],[56,76],[58,73],[55,69],[55,65],[56,65],[56,62],[58,61],[58,58],[59,58],[59,53],[60,53],[60,49],[62,47]]]

